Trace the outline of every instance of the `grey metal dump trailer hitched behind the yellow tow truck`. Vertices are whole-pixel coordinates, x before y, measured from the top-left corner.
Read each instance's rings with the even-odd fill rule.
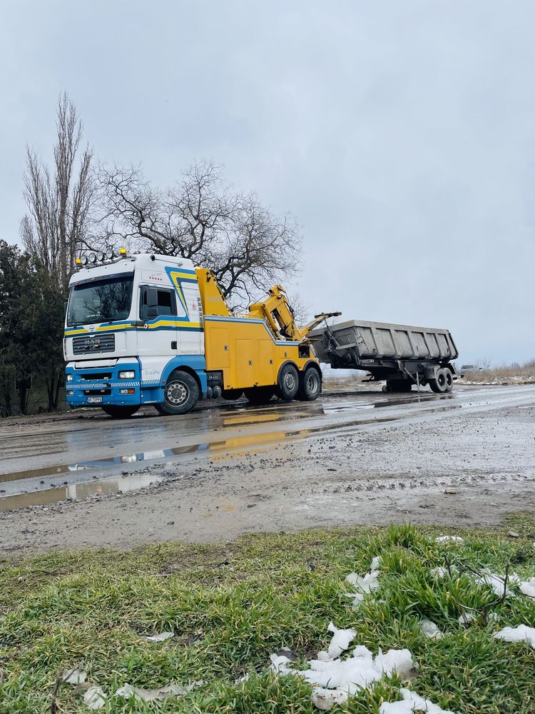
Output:
[[[316,328],[308,338],[320,362],[335,369],[362,369],[370,381],[385,380],[387,392],[429,384],[434,392],[452,391],[459,356],[448,330],[351,320]]]

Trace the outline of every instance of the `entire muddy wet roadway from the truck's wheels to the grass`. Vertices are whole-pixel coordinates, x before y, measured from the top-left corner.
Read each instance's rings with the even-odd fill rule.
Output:
[[[535,386],[9,420],[0,491],[11,553],[355,523],[486,526],[535,508]]]

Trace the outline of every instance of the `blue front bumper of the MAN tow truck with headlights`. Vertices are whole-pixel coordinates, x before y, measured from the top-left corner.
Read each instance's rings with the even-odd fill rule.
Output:
[[[119,372],[124,371],[133,371],[135,376],[119,379]],[[71,407],[133,406],[142,403],[141,365],[132,358],[118,360],[113,367],[75,368],[70,362],[65,373],[67,403]]]

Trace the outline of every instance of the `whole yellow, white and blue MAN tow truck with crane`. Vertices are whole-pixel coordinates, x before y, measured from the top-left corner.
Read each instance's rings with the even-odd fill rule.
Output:
[[[143,405],[184,414],[200,399],[258,404],[317,399],[322,372],[284,288],[273,286],[246,313],[232,311],[207,268],[121,249],[77,258],[69,283],[63,351],[66,398],[113,418]]]

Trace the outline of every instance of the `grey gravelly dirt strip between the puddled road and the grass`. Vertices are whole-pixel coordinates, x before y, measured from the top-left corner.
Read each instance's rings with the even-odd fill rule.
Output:
[[[273,431],[270,438],[260,433],[258,415],[270,426],[275,420],[255,411],[249,442],[243,436],[218,441],[214,451],[147,461],[118,475],[117,469],[101,470],[91,479],[98,491],[86,500],[0,513],[0,549],[22,555],[51,548],[130,548],[407,521],[489,526],[505,513],[535,509],[534,388],[458,391],[447,403],[383,401],[377,417],[381,399],[352,396],[350,417],[358,409],[365,418],[340,421],[348,398],[325,397],[325,410],[338,415],[327,420],[332,428],[290,432],[286,426],[284,436]],[[281,407],[274,403],[275,408]],[[372,408],[373,418],[367,416]],[[287,416],[297,419],[291,410]],[[316,411],[305,410],[299,426],[319,419]],[[122,479],[133,477],[146,486],[121,488]],[[91,481],[85,471],[83,478]],[[106,495],[108,481],[116,493]]]

